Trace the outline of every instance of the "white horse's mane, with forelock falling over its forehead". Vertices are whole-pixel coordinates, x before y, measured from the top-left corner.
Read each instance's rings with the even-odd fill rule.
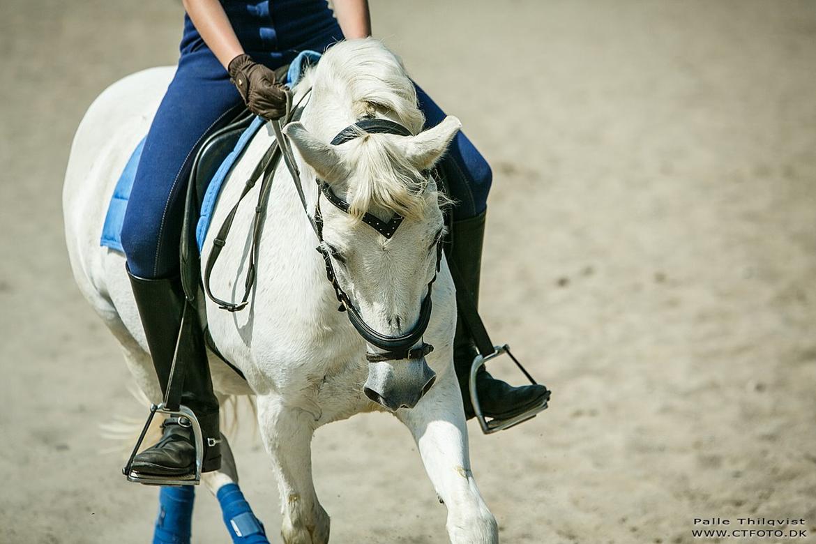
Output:
[[[417,105],[414,83],[401,60],[373,38],[339,42],[304,77],[315,96],[347,108],[350,121],[366,116],[394,118],[411,134],[422,130],[425,117]],[[363,171],[348,188],[349,213],[360,219],[366,211],[385,210],[420,219],[437,194],[425,191],[425,178],[406,160],[392,135],[362,134],[348,144]]]

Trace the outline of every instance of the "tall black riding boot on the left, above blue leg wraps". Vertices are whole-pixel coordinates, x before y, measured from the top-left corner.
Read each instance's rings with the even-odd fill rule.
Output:
[[[210,365],[201,327],[196,319],[192,327],[181,330],[181,316],[187,304],[178,276],[160,280],[131,278],[136,307],[148,340],[153,367],[162,393],[167,391],[176,343],[179,358],[184,357],[184,393],[181,404],[193,410],[202,428],[204,459],[202,472],[221,467],[218,399],[212,391]],[[194,312],[193,307],[190,310]],[[162,439],[133,459],[131,470],[140,475],[192,476],[196,471],[193,428],[188,418],[167,418],[162,423]]]

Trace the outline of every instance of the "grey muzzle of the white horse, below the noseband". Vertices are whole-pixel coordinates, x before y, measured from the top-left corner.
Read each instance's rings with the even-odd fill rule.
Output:
[[[424,357],[384,360],[368,364],[363,392],[377,404],[396,412],[401,408],[414,408],[436,380],[437,374]]]

